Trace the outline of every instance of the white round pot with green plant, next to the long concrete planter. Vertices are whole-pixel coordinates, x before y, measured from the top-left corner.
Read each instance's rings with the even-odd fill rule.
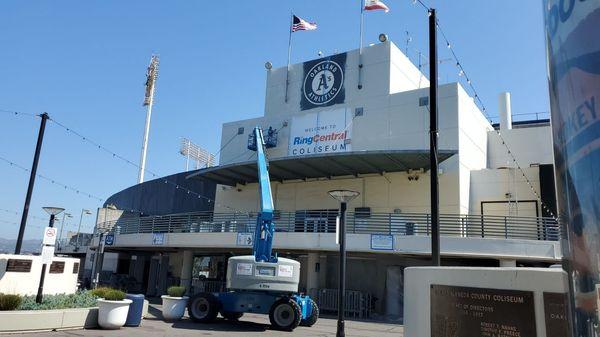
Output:
[[[98,298],[98,325],[103,329],[119,329],[125,325],[131,300],[116,289],[104,289],[95,294]]]

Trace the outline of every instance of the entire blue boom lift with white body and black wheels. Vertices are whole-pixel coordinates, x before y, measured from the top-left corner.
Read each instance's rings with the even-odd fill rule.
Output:
[[[234,256],[227,263],[227,291],[198,293],[188,302],[190,318],[213,322],[217,315],[238,320],[245,312],[269,314],[271,326],[292,331],[298,325],[312,326],[319,308],[309,296],[298,293],[300,263],[273,254],[273,197],[265,149],[277,145],[271,128],[266,138],[256,127],[248,139],[248,149],[256,151],[260,186],[260,213],[254,232],[254,255]]]

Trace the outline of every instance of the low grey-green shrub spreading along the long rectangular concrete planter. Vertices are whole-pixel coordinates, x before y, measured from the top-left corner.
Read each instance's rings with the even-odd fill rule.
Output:
[[[42,303],[35,303],[35,296],[23,297],[19,310],[53,310],[96,307],[97,297],[91,291],[83,290],[75,294],[44,295]]]

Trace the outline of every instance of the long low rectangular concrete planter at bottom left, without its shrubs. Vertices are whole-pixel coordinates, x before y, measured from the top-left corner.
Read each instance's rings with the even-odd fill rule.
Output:
[[[97,326],[98,308],[0,311],[0,333]]]

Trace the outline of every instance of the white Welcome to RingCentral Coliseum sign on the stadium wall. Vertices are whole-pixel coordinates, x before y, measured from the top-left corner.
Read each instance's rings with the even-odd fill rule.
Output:
[[[292,118],[289,156],[351,150],[352,115],[347,109],[308,113]]]

